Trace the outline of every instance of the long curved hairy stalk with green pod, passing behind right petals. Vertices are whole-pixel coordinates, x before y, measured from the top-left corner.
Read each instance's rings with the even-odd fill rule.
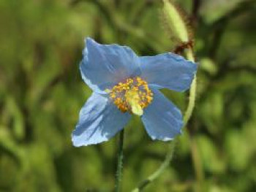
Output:
[[[183,47],[182,49],[184,50],[184,55],[187,58],[187,60],[195,62],[195,57],[194,53],[192,50],[192,45],[190,42],[192,42],[192,39],[190,38],[189,35],[189,30],[187,28],[187,24],[182,17],[181,13],[178,11],[176,6],[174,6],[171,1],[168,0],[162,0],[163,2],[163,8],[162,8],[162,13],[163,13],[163,19],[164,22],[167,24],[167,32],[170,32],[172,34],[171,39],[176,39],[178,42],[180,42],[181,45],[188,45]],[[184,127],[187,126],[187,123],[189,119],[192,116],[192,112],[195,107],[195,96],[196,96],[196,75],[192,81],[192,84],[189,89],[189,103],[187,106],[187,110],[184,114]],[[170,150],[167,152],[165,161],[159,166],[159,169],[157,169],[156,172],[151,174],[146,180],[144,180],[140,185],[138,185],[137,188],[135,188],[132,192],[138,192],[141,191],[143,188],[146,187],[149,183],[153,182],[154,180],[159,177],[162,172],[165,171],[167,166],[169,166],[170,161],[173,158],[173,153],[176,147],[176,139],[173,140],[173,142],[170,143],[171,147]]]

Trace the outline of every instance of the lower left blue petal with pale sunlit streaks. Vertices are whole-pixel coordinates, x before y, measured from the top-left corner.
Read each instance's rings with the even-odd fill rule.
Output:
[[[122,113],[107,97],[93,93],[82,107],[72,132],[75,147],[108,141],[127,124],[129,113]]]

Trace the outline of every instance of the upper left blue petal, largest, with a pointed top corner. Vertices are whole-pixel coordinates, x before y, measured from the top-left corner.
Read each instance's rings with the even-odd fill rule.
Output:
[[[91,38],[86,39],[80,72],[86,84],[98,93],[141,73],[139,58],[129,47],[100,45]]]

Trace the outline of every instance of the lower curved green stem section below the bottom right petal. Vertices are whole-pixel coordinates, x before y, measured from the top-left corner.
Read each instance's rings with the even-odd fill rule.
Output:
[[[176,139],[174,139],[173,142],[170,142],[170,150],[168,151],[165,161],[161,164],[159,169],[157,169],[157,171],[154,172],[153,174],[149,175],[149,177],[146,178],[146,180],[143,180],[143,182],[141,182],[137,188],[133,189],[132,192],[141,191],[143,188],[146,187],[146,185],[156,180],[157,177],[159,177],[159,175],[165,171],[167,166],[169,166],[171,159],[173,158],[173,152],[174,152],[175,146],[176,146]]]

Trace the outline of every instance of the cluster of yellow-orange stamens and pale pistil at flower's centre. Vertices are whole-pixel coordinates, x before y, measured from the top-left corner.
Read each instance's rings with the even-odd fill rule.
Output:
[[[113,86],[110,98],[121,112],[129,111],[135,115],[143,115],[143,108],[151,104],[153,93],[146,81],[133,77]]]

